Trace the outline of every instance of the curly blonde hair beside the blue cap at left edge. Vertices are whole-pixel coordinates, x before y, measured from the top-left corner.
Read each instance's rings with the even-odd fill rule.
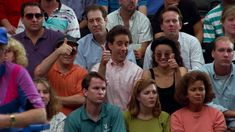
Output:
[[[19,41],[14,38],[9,38],[7,50],[10,50],[14,53],[15,60],[13,61],[13,63],[22,65],[23,67],[28,66],[26,51]]]

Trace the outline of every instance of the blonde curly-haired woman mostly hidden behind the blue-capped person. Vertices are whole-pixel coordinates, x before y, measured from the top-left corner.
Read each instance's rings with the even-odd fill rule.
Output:
[[[28,59],[25,49],[23,45],[14,38],[9,38],[5,59],[23,67],[28,66]]]

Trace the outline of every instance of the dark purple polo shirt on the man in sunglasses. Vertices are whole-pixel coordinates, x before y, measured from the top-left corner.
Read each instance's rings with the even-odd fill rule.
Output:
[[[31,77],[33,77],[36,66],[55,50],[57,47],[56,42],[59,38],[63,37],[63,34],[49,29],[44,29],[43,35],[38,39],[36,44],[32,43],[31,39],[25,32],[16,34],[13,37],[20,41],[24,46],[29,62],[26,69],[29,71]]]

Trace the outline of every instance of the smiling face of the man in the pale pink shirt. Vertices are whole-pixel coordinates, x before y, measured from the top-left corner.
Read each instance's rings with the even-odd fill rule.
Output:
[[[109,43],[113,61],[117,63],[124,62],[128,53],[129,42],[130,39],[128,35],[120,34],[114,37],[114,42]]]

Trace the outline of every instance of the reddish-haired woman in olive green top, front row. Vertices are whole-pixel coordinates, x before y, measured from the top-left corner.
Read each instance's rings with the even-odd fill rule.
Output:
[[[169,114],[161,105],[153,79],[140,79],[124,112],[127,132],[169,132]]]

